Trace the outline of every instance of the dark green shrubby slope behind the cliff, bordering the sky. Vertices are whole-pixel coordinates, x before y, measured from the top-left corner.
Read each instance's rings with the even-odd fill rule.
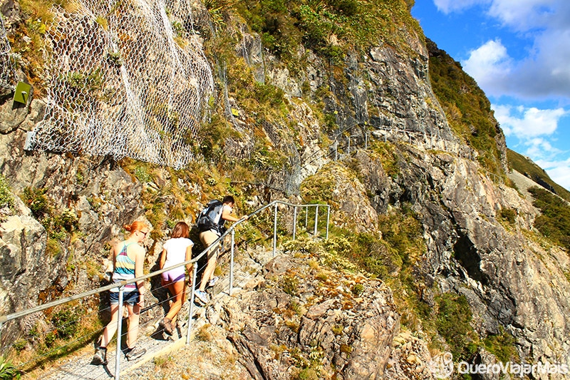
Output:
[[[499,125],[491,111],[491,103],[473,78],[462,70],[435,43],[427,40],[430,51],[430,79],[447,120],[455,133],[479,153],[480,164],[489,172],[504,176],[501,153],[495,137]]]

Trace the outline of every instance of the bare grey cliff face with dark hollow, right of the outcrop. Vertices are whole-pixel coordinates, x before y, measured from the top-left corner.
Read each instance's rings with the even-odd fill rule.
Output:
[[[399,149],[408,160],[400,161],[396,180],[388,179],[386,195],[409,202],[423,222],[427,255],[418,284],[435,281],[442,291],[465,294],[477,331],[484,336],[506,328],[525,360],[567,363],[570,259],[524,235],[537,210],[516,190],[492,183],[470,160]],[[359,154],[362,165],[381,173],[370,170],[367,153]],[[503,208],[517,210],[516,224],[499,222]]]

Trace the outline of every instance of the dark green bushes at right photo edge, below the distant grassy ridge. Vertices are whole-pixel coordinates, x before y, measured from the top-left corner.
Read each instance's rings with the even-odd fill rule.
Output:
[[[570,205],[543,188],[529,188],[534,197],[533,205],[541,210],[534,220],[542,235],[570,252]]]

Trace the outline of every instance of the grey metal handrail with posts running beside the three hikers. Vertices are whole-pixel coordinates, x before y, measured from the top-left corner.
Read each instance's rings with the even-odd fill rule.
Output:
[[[139,282],[145,279],[149,279],[150,277],[155,277],[158,274],[162,274],[164,272],[167,272],[171,269],[177,268],[177,267],[182,267],[185,265],[193,265],[193,270],[192,270],[192,292],[190,294],[190,311],[189,311],[189,316],[188,316],[188,331],[187,331],[187,339],[186,339],[186,343],[189,344],[190,343],[190,332],[192,329],[192,314],[193,314],[193,306],[194,306],[194,301],[195,301],[195,284],[196,279],[197,279],[197,265],[195,265],[195,263],[197,263],[198,260],[200,260],[202,257],[204,257],[204,255],[207,255],[207,253],[211,250],[214,249],[218,249],[218,245],[222,244],[222,240],[227,237],[227,235],[231,235],[232,238],[232,245],[231,245],[231,261],[230,261],[230,271],[229,271],[229,294],[232,294],[232,288],[233,288],[233,277],[234,277],[234,237],[235,237],[235,229],[238,225],[240,225],[242,222],[244,222],[244,220],[246,220],[247,218],[253,216],[253,215],[257,215],[259,214],[259,212],[266,210],[267,208],[274,206],[274,236],[273,236],[273,256],[275,256],[276,254],[276,220],[277,220],[277,205],[286,205],[286,206],[290,206],[290,207],[294,207],[294,227],[293,227],[293,239],[295,239],[296,236],[296,216],[297,216],[297,207],[306,207],[307,213],[309,210],[309,207],[316,207],[316,212],[315,212],[315,227],[314,227],[314,235],[316,236],[317,234],[317,224],[318,224],[318,207],[327,207],[327,215],[326,215],[326,238],[328,238],[328,223],[330,220],[330,212],[331,212],[331,207],[330,205],[326,205],[326,204],[309,204],[309,205],[295,205],[293,203],[289,203],[289,202],[284,202],[281,200],[274,200],[273,202],[270,202],[269,204],[260,207],[259,209],[255,210],[254,212],[250,213],[249,215],[247,215],[247,217],[242,217],[239,220],[237,220],[236,222],[234,222],[234,224],[232,224],[226,231],[224,231],[224,233],[222,233],[222,235],[220,235],[217,240],[215,240],[211,245],[209,245],[208,247],[206,247],[202,252],[199,253],[199,255],[197,255],[197,257],[193,258],[192,260],[188,260],[185,262],[181,262],[177,265],[172,265],[170,267],[167,268],[162,268],[159,270],[156,270],[155,272],[151,272],[149,274],[145,274],[143,276],[140,277],[136,277],[134,279],[128,279],[128,280],[123,280],[121,282],[115,282],[113,284],[108,284],[105,285],[104,287],[98,287],[97,289],[93,289],[93,290],[89,290],[88,292],[83,292],[80,294],[75,294],[73,296],[69,296],[69,297],[63,297],[61,299],[56,299],[55,301],[52,302],[48,302],[46,304],[41,304],[38,305],[36,307],[32,307],[30,309],[26,309],[26,310],[22,310],[20,312],[14,312],[11,314],[6,314],[6,315],[1,315],[0,316],[0,334],[1,334],[1,328],[4,325],[4,323],[9,322],[11,320],[14,319],[18,319],[21,317],[26,317],[29,314],[34,314],[37,312],[42,312],[43,310],[52,308],[52,307],[56,307],[59,306],[61,304],[66,304],[68,302],[72,302],[75,301],[77,299],[82,299],[85,297],[89,297],[92,296],[93,294],[98,294],[101,292],[105,292],[107,290],[113,289],[113,288],[119,288],[119,300],[121,300],[123,298],[123,289],[125,287],[125,285],[127,284],[133,284],[134,282]],[[120,307],[122,306],[122,302],[120,302]],[[119,310],[120,312],[120,310]],[[119,315],[122,315],[121,313]],[[118,327],[118,336],[120,336],[120,321],[122,318],[119,318],[119,327]],[[116,365],[115,365],[115,379],[118,379],[118,376],[120,374],[120,364],[119,364],[119,355],[120,355],[120,350],[117,349],[116,352]]]

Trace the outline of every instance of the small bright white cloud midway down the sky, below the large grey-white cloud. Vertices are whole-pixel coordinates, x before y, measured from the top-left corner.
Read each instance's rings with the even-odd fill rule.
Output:
[[[499,121],[505,135],[514,135],[527,145],[547,149],[549,146],[544,145],[541,139],[536,138],[549,136],[556,132],[559,120],[568,114],[564,108],[539,110],[535,107],[504,105],[493,105],[492,108],[494,109],[494,117]]]

